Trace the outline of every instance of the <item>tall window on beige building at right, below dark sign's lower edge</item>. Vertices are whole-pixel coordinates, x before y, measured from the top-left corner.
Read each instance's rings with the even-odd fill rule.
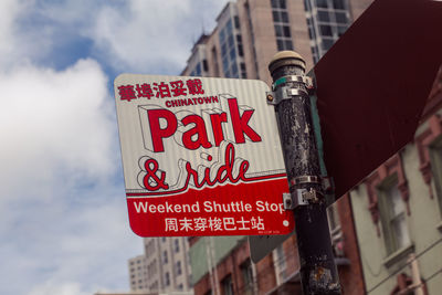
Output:
[[[379,209],[387,253],[410,245],[404,201],[396,177],[387,178],[379,189]]]

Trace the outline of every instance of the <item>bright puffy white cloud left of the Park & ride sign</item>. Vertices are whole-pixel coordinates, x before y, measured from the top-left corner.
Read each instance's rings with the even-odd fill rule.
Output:
[[[115,171],[109,147],[116,125],[107,77],[96,62],[78,61],[62,72],[20,66],[0,73],[0,135],[8,143],[0,146],[8,167],[0,170],[0,186],[39,190]]]

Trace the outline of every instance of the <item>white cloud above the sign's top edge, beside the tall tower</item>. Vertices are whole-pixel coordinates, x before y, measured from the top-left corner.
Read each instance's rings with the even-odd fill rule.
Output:
[[[90,32],[99,52],[119,71],[179,74],[192,43],[211,30],[227,1],[134,0],[105,7]]]

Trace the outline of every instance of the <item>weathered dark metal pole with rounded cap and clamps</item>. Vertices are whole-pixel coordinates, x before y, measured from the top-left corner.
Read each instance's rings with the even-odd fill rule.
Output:
[[[303,293],[340,294],[312,122],[305,62],[293,51],[278,52],[269,70],[291,196],[284,204],[295,213]],[[288,197],[288,198],[287,198]]]

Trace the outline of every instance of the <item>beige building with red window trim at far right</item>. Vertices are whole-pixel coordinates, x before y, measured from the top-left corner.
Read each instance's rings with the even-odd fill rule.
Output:
[[[414,141],[351,193],[367,294],[442,289],[442,76]]]

